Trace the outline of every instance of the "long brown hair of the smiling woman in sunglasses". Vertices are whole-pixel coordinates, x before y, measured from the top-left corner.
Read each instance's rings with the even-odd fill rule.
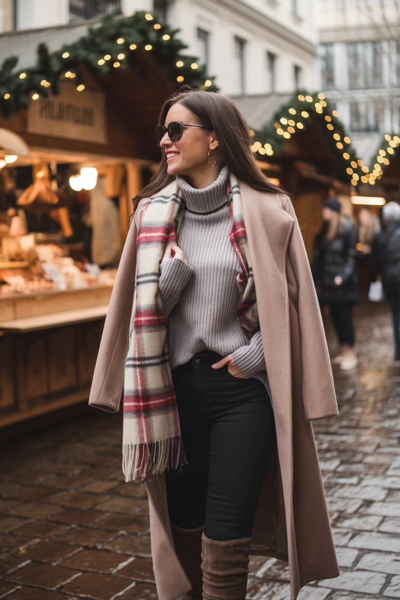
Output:
[[[201,125],[215,131],[219,141],[219,167],[226,165],[239,181],[244,181],[255,190],[284,194],[278,185],[266,178],[258,166],[250,148],[252,140],[248,124],[230,98],[217,92],[206,92],[184,86],[164,102],[158,125],[164,125],[167,112],[176,103],[183,104],[191,110]],[[148,185],[134,197],[134,210],[142,198],[148,198],[162,190],[173,179],[175,175],[167,172],[167,157],[163,152],[157,172]]]

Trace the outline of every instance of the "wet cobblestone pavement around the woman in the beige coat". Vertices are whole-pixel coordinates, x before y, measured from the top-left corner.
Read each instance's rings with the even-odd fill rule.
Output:
[[[341,575],[299,600],[400,598],[400,368],[386,305],[356,308],[359,367],[335,368],[340,415],[314,422]],[[335,341],[329,323],[330,350]],[[0,598],[156,600],[145,489],[121,472],[121,417],[5,443]],[[285,563],[252,557],[248,600],[288,600]]]

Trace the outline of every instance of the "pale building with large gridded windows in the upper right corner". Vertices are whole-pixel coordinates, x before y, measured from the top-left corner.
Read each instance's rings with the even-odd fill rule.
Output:
[[[400,131],[399,0],[319,0],[320,87],[365,162]]]

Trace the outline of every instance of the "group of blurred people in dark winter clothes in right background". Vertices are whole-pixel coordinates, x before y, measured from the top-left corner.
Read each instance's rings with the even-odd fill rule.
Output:
[[[330,196],[324,202],[323,226],[315,238],[312,276],[340,344],[332,363],[345,371],[358,363],[352,313],[364,289],[370,301],[386,298],[389,303],[394,359],[400,364],[400,205],[387,203],[380,216],[363,207],[356,218],[345,217],[339,200]]]

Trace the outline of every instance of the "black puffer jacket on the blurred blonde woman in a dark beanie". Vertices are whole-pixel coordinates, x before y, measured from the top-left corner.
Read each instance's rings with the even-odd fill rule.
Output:
[[[311,271],[321,304],[357,304],[359,290],[356,271],[356,233],[349,219],[342,224],[336,237],[326,239],[328,224],[315,238]],[[343,283],[336,286],[339,275]]]

